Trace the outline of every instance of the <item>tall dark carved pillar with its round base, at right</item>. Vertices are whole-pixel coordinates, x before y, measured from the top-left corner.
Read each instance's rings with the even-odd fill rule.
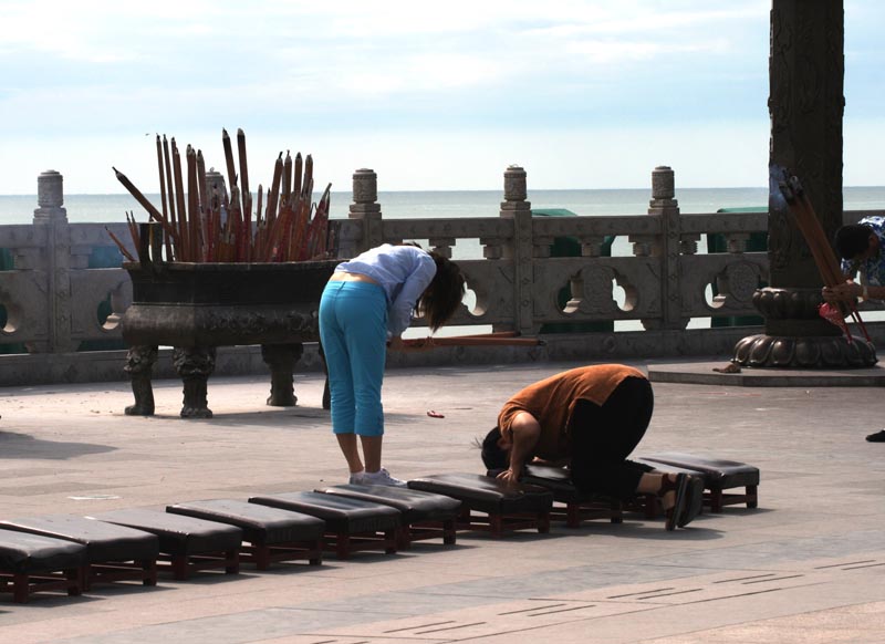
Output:
[[[773,0],[769,58],[769,167],[802,183],[829,238],[842,225],[842,115],[845,106],[843,0]],[[823,285],[773,178],[769,196],[771,287],[753,303],[766,333],[741,340],[735,360],[759,367],[868,366],[866,342],[846,342],[818,315]]]

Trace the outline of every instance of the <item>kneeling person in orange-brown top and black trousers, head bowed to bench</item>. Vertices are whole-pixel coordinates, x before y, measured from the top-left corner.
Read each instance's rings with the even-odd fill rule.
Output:
[[[517,481],[529,461],[568,466],[582,492],[628,500],[656,494],[667,510],[667,530],[687,526],[700,511],[704,484],[627,460],[654,408],[645,375],[623,364],[573,368],[523,388],[498,416],[482,442],[482,461]]]

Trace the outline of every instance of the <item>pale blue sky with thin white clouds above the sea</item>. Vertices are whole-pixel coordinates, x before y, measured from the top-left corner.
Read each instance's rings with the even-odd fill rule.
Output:
[[[882,186],[885,2],[844,0],[844,185]],[[158,191],[156,134],[250,184],[767,186],[771,0],[0,0],[0,195]]]

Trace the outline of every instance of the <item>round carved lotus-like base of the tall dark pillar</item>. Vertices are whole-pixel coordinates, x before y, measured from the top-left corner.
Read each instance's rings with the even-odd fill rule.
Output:
[[[766,333],[743,337],[732,362],[749,367],[863,368],[876,364],[876,350],[853,334],[848,342],[818,314],[820,289],[759,289],[753,305],[766,318]]]

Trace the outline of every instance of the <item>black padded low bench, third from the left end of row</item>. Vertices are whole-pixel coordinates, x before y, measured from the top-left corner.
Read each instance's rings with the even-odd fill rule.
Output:
[[[140,509],[112,510],[93,518],[156,534],[157,567],[171,571],[176,580],[187,580],[201,570],[240,571],[242,530],[236,526]]]

